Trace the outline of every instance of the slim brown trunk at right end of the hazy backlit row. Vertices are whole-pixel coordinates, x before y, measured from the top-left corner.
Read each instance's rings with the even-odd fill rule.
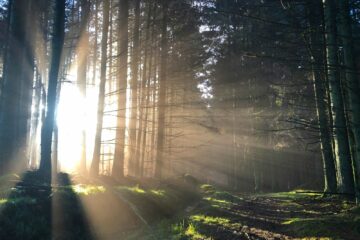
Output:
[[[168,21],[168,2],[162,1],[162,26],[161,26],[161,69],[159,76],[159,103],[158,103],[158,133],[157,133],[157,156],[155,165],[155,177],[161,179],[163,168],[163,152],[165,143],[165,104],[166,104],[166,78],[167,78],[167,21]]]

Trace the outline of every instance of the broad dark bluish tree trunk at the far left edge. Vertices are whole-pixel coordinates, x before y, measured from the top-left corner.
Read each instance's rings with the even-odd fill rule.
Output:
[[[9,7],[0,93],[0,173],[25,167],[34,77],[33,34],[27,28],[34,23],[32,1],[13,0]]]

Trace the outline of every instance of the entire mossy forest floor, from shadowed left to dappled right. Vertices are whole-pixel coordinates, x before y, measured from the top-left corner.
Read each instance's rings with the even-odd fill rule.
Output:
[[[298,190],[240,194],[195,186],[36,172],[0,178],[0,239],[360,239],[351,200]]]

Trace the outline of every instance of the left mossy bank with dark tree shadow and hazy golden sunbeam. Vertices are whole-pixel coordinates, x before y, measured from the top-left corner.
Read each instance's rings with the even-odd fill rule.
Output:
[[[37,172],[0,179],[0,239],[123,239],[142,219],[170,218],[198,198],[181,181],[55,179],[49,185]]]

